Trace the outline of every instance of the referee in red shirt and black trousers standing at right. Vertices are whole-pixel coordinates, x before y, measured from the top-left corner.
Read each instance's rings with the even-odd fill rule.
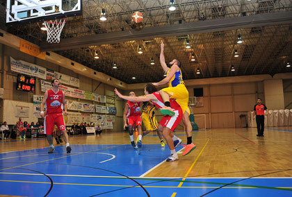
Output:
[[[254,119],[255,114],[257,114],[257,137],[263,137],[263,129],[265,126],[265,110],[267,110],[268,113],[266,105],[261,103],[261,99],[257,99],[257,105],[254,105],[254,115],[252,117],[252,119]]]

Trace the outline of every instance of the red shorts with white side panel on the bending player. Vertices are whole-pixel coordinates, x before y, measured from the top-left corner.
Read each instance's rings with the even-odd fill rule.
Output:
[[[168,115],[165,115],[159,124],[163,127],[169,128],[171,131],[175,130],[175,128],[179,125],[181,122],[181,118],[183,116],[181,108],[178,108],[176,110],[173,110],[175,112],[175,115],[173,117],[170,117]]]

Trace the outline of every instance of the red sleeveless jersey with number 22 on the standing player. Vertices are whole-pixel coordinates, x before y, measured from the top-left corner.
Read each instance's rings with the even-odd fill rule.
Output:
[[[46,100],[46,108],[47,108],[47,114],[56,114],[56,113],[62,113],[62,102],[64,98],[64,94],[62,90],[58,90],[57,93],[53,91],[53,89],[49,89],[47,92],[47,100]]]

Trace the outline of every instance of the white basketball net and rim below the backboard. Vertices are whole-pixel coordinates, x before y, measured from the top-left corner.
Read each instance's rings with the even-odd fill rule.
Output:
[[[66,20],[65,19],[55,19],[54,22],[44,21],[44,26],[47,28],[47,42],[49,43],[59,43],[60,42],[60,33],[65,26]]]

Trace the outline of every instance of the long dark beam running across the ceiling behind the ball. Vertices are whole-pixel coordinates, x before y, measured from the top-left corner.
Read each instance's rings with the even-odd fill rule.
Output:
[[[292,11],[285,11],[252,15],[247,17],[232,17],[226,19],[213,19],[200,22],[190,22],[186,24],[155,26],[143,28],[141,31],[129,30],[113,33],[102,33],[97,35],[86,35],[83,37],[71,37],[61,40],[58,44],[41,42],[40,48],[41,51],[60,51],[67,49],[78,49],[85,46],[127,42],[130,40],[147,40],[153,37],[187,35],[213,31],[226,31],[237,28],[251,28],[255,26],[269,26],[273,24],[291,23]]]

